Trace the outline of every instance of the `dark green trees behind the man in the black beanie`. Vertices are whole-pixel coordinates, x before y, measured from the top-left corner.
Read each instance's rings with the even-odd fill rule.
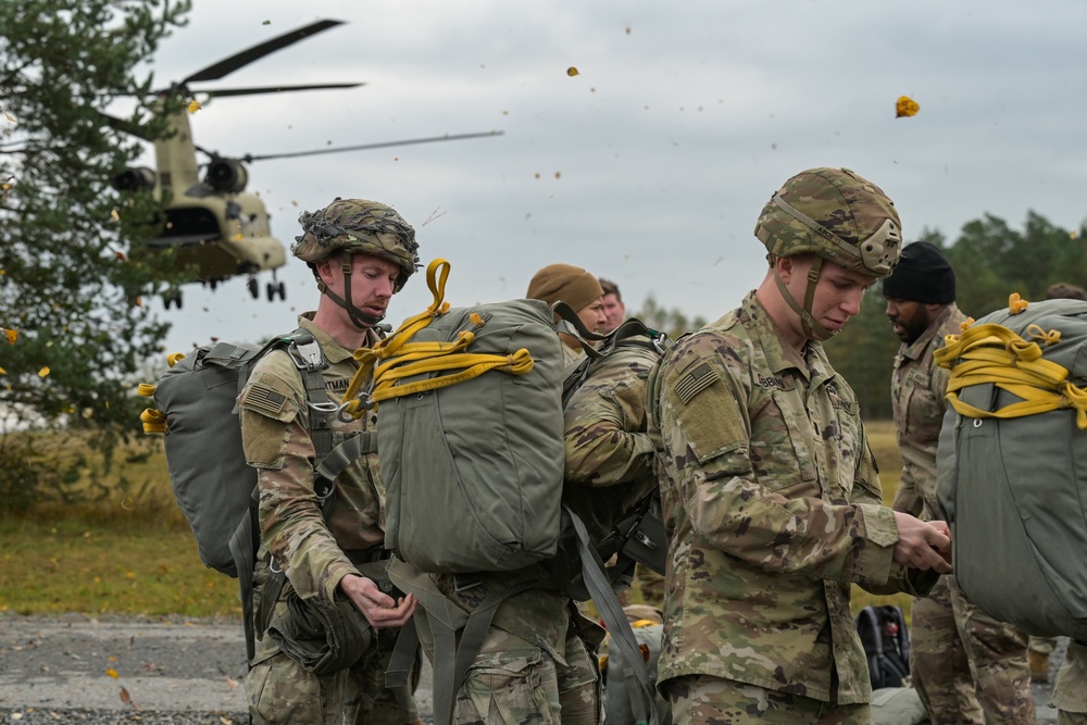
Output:
[[[1019,292],[1027,300],[1046,298],[1057,282],[1087,282],[1084,229],[1070,232],[1028,212],[1023,230],[986,214],[965,224],[951,246],[939,232],[924,229],[919,241],[944,249],[955,271],[959,309],[975,318],[1008,307]],[[880,286],[865,296],[861,313],[825,343],[832,364],[857,392],[866,418],[891,416],[890,371],[899,339],[884,314]]]

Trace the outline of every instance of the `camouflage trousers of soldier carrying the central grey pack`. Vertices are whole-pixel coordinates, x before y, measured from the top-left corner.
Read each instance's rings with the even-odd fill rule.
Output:
[[[415,617],[420,643],[434,661],[434,636],[426,617]],[[565,661],[538,645],[491,627],[457,692],[457,725],[599,725],[600,668],[571,625],[554,642]]]

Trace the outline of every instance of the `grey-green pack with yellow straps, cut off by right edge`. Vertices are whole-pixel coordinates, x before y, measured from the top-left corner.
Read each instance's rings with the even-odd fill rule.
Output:
[[[935,359],[957,582],[1028,634],[1087,639],[1087,302],[1013,295]]]

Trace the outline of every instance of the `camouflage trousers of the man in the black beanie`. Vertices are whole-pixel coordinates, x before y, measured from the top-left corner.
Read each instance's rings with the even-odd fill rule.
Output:
[[[910,675],[933,725],[1035,722],[1027,636],[970,601],[954,576],[913,601]]]

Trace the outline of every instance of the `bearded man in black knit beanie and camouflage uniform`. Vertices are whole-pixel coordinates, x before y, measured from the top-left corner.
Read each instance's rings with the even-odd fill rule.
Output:
[[[933,362],[966,315],[955,307],[955,278],[939,248],[907,246],[884,280],[887,317],[902,340],[891,375],[891,402],[902,452],[894,508],[942,520],[936,499],[936,443],[947,412],[950,372]],[[965,596],[953,575],[913,602],[911,682],[933,725],[1034,723],[1027,636],[998,622]],[[984,717],[983,717],[984,714]]]

